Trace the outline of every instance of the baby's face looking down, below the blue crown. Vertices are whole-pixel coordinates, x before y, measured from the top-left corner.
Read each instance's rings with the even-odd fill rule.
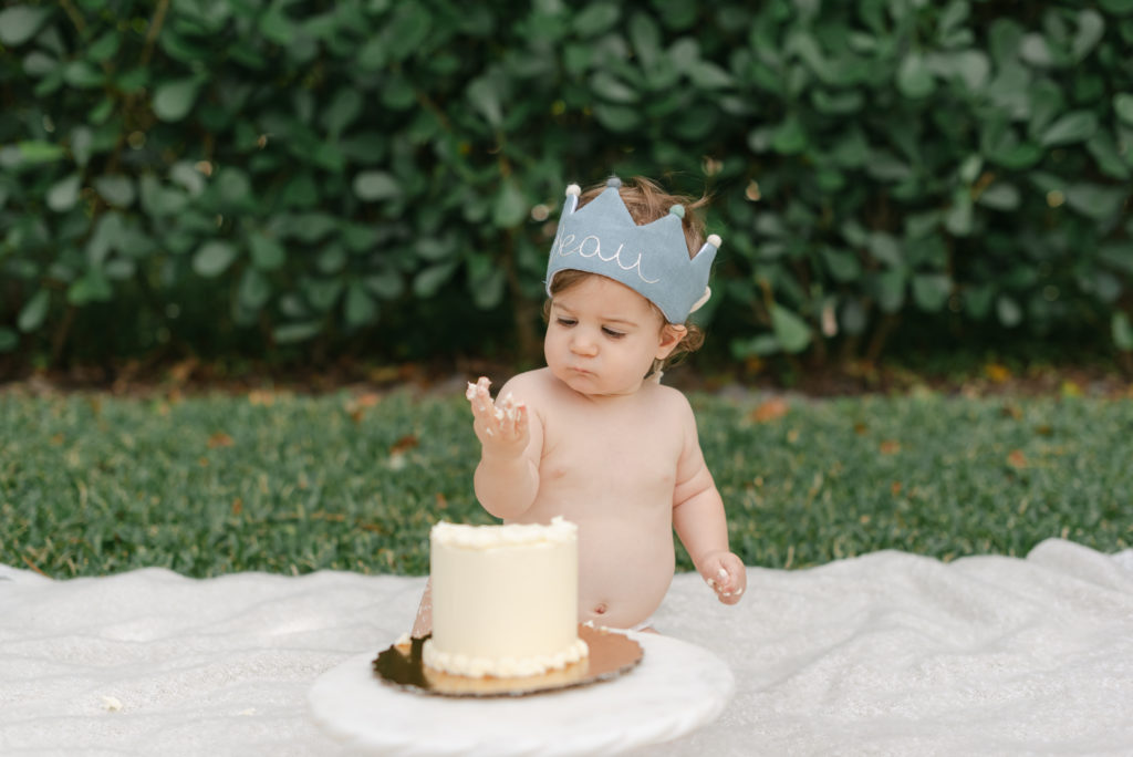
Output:
[[[629,287],[590,275],[559,292],[543,341],[547,367],[582,394],[631,394],[654,359],[668,356],[680,332]]]

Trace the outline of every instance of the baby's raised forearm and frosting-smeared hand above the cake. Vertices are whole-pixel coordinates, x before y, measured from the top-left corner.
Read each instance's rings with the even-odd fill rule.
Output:
[[[513,519],[535,502],[539,490],[538,450],[543,444],[543,428],[538,416],[526,405],[516,402],[501,390],[499,405],[488,394],[488,380],[480,377],[468,385],[467,397],[472,407],[472,428],[480,440],[480,462],[476,466],[474,486],[476,497],[493,516]],[[534,450],[534,452],[533,452]]]

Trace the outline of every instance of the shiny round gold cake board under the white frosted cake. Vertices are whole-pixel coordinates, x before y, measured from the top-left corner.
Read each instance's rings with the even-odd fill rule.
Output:
[[[641,645],[624,633],[605,628],[579,626],[578,636],[586,641],[586,658],[539,675],[521,678],[467,678],[434,670],[421,660],[424,638],[409,645],[393,645],[374,660],[374,673],[383,683],[411,691],[442,697],[523,697],[587,686],[617,678],[641,662]]]

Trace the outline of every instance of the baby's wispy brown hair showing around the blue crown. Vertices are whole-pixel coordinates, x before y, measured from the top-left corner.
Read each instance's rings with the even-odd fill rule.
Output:
[[[579,195],[578,206],[582,207],[602,194],[605,188],[605,181],[590,187]],[[664,218],[668,214],[668,209],[673,205],[683,205],[684,218],[681,221],[681,228],[684,231],[684,240],[689,247],[689,260],[696,257],[697,253],[705,243],[705,222],[699,211],[708,204],[707,197],[702,196],[699,199],[693,199],[684,195],[671,195],[662,189],[656,181],[640,176],[636,176],[628,181],[623,181],[617,192],[622,197],[622,202],[625,203],[625,210],[630,212],[630,218],[632,218],[634,223],[638,226],[653,223],[657,219]],[[551,298],[554,299],[555,295],[559,292],[566,291],[578,282],[591,275],[599,274],[573,270],[559,271],[551,281]],[[648,303],[649,300],[647,299],[646,301]],[[665,314],[661,312],[659,307],[653,303],[649,303],[649,307],[661,315],[663,324],[667,324],[667,318],[665,318]],[[551,300],[548,299],[543,306],[544,320],[550,317],[550,313]],[[699,326],[693,323],[675,325],[684,326],[684,337],[680,342],[678,342],[676,347],[672,352],[670,352],[668,357],[664,360],[654,360],[653,369],[649,372],[650,374],[656,373],[658,369],[667,368],[668,366],[680,362],[683,356],[695,352],[704,345],[705,334]]]

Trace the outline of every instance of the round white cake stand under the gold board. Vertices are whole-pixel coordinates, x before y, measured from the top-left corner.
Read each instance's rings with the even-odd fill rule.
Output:
[[[382,683],[358,655],[315,681],[315,722],[360,751],[445,755],[613,755],[668,741],[710,723],[735,681],[707,649],[631,633],[641,663],[612,681],[528,697],[424,696]]]

